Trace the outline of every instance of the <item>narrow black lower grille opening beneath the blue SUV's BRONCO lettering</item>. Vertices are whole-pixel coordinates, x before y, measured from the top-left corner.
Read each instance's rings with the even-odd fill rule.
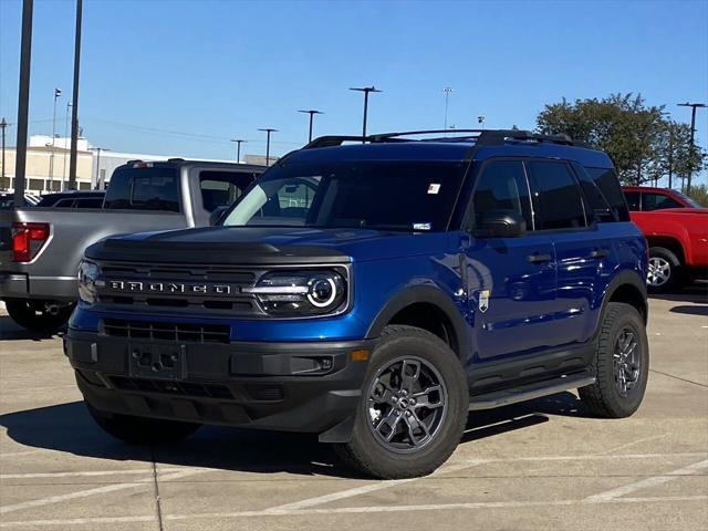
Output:
[[[185,324],[152,321],[106,319],[103,333],[112,337],[129,340],[162,340],[185,343],[229,343],[231,329],[228,324]]]

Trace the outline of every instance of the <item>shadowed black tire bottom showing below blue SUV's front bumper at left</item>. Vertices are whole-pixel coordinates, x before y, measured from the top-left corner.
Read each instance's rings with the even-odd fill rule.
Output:
[[[163,420],[101,412],[86,403],[88,413],[108,435],[131,445],[168,445],[189,437],[200,424]]]

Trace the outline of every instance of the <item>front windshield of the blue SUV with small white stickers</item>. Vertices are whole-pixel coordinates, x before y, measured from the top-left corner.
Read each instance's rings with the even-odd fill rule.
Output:
[[[291,163],[271,168],[226,226],[446,230],[462,163]]]

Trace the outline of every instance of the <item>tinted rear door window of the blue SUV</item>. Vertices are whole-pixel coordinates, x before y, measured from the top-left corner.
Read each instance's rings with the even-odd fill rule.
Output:
[[[537,230],[586,227],[583,194],[565,163],[529,160]]]

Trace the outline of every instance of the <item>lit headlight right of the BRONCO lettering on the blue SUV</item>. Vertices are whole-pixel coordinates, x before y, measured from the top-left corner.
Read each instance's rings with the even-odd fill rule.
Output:
[[[275,271],[242,291],[254,294],[270,315],[325,315],[346,304],[346,280],[334,270]]]

